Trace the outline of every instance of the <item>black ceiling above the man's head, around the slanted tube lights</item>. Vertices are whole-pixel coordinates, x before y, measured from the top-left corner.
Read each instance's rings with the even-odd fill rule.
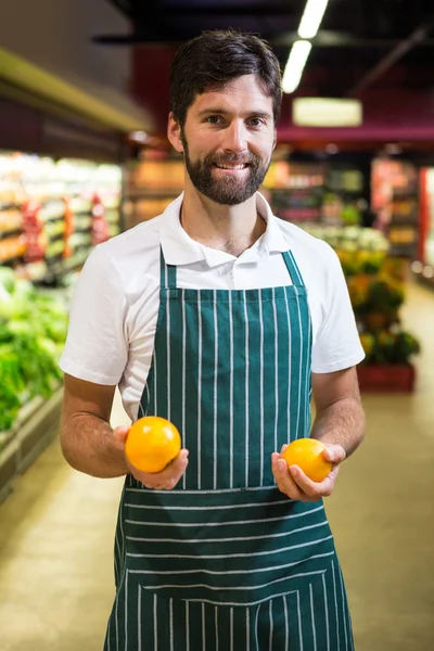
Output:
[[[101,47],[128,47],[140,59],[158,48],[175,52],[205,29],[232,27],[266,38],[282,68],[306,5],[306,0],[106,1],[129,17],[131,29],[94,35]],[[433,0],[330,0],[312,44],[295,94],[357,98],[399,90],[424,93],[434,111]],[[146,92],[153,92],[149,82]]]

